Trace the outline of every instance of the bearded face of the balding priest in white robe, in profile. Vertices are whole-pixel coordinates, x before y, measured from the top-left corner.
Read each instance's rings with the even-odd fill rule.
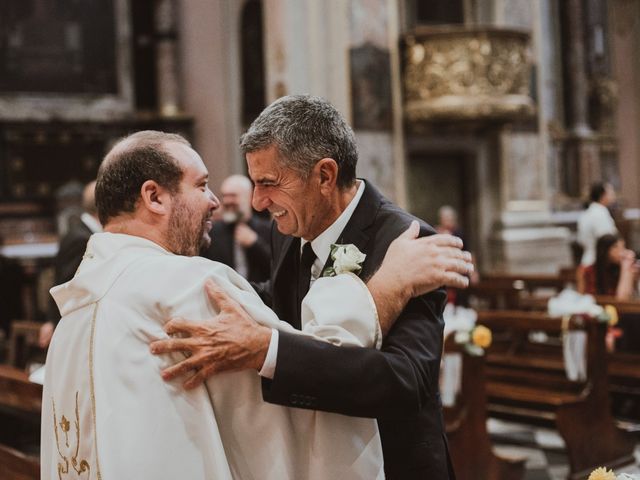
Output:
[[[200,156],[192,148],[178,143],[168,144],[166,148],[183,171],[180,190],[172,197],[167,243],[177,255],[198,255],[211,244],[212,215],[220,203],[209,190],[209,172]]]

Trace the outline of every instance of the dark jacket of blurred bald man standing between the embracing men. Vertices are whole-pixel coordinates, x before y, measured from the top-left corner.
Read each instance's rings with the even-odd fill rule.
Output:
[[[250,282],[264,282],[271,272],[271,222],[255,215],[247,222],[258,234],[258,239],[251,247],[245,248]],[[236,268],[233,255],[234,224],[222,221],[215,222],[211,229],[211,245],[202,253],[203,257]]]

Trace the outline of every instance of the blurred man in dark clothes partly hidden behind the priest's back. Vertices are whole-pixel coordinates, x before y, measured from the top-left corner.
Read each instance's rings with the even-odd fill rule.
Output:
[[[102,231],[102,225],[100,225],[98,211],[96,210],[95,189],[95,181],[88,183],[84,187],[82,193],[83,212],[80,215],[80,221],[71,223],[69,231],[60,241],[60,247],[54,262],[54,285],[61,285],[73,278],[84,256],[89,237]],[[53,330],[60,320],[57,307],[53,301],[50,303],[49,321],[40,327],[38,344],[42,348],[49,346]]]

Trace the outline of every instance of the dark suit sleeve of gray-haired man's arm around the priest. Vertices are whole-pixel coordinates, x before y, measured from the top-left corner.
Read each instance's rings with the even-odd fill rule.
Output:
[[[280,333],[273,380],[263,379],[267,402],[359,417],[406,415],[439,402],[444,289],[412,300],[380,351],[336,347]]]

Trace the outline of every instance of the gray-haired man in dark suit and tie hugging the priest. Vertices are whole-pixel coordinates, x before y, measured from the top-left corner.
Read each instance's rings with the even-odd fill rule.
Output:
[[[268,210],[277,225],[271,281],[258,290],[281,319],[299,328],[300,302],[314,279],[346,268],[366,280],[415,217],[386,200],[371,183],[356,179],[353,132],[325,100],[281,98],[256,119],[241,147],[254,182],[253,205]],[[434,233],[424,222],[420,232]],[[380,350],[334,347],[265,331],[222,308],[223,315],[204,333],[202,325],[196,331],[184,321],[169,322],[173,332],[198,336],[200,346],[190,348],[192,357],[164,376],[197,368],[187,383],[193,386],[194,379],[215,372],[262,365],[268,402],[377,418],[387,478],[454,478],[438,393],[446,301],[439,286],[466,286],[460,274],[470,273],[470,257],[453,238],[429,239],[434,240],[433,288],[396,310],[395,324],[382,332]],[[355,246],[366,258],[360,265],[338,261],[336,244],[351,245],[349,250]],[[376,306],[379,311],[389,307]],[[166,348],[157,351],[186,345],[180,340],[159,343]]]

